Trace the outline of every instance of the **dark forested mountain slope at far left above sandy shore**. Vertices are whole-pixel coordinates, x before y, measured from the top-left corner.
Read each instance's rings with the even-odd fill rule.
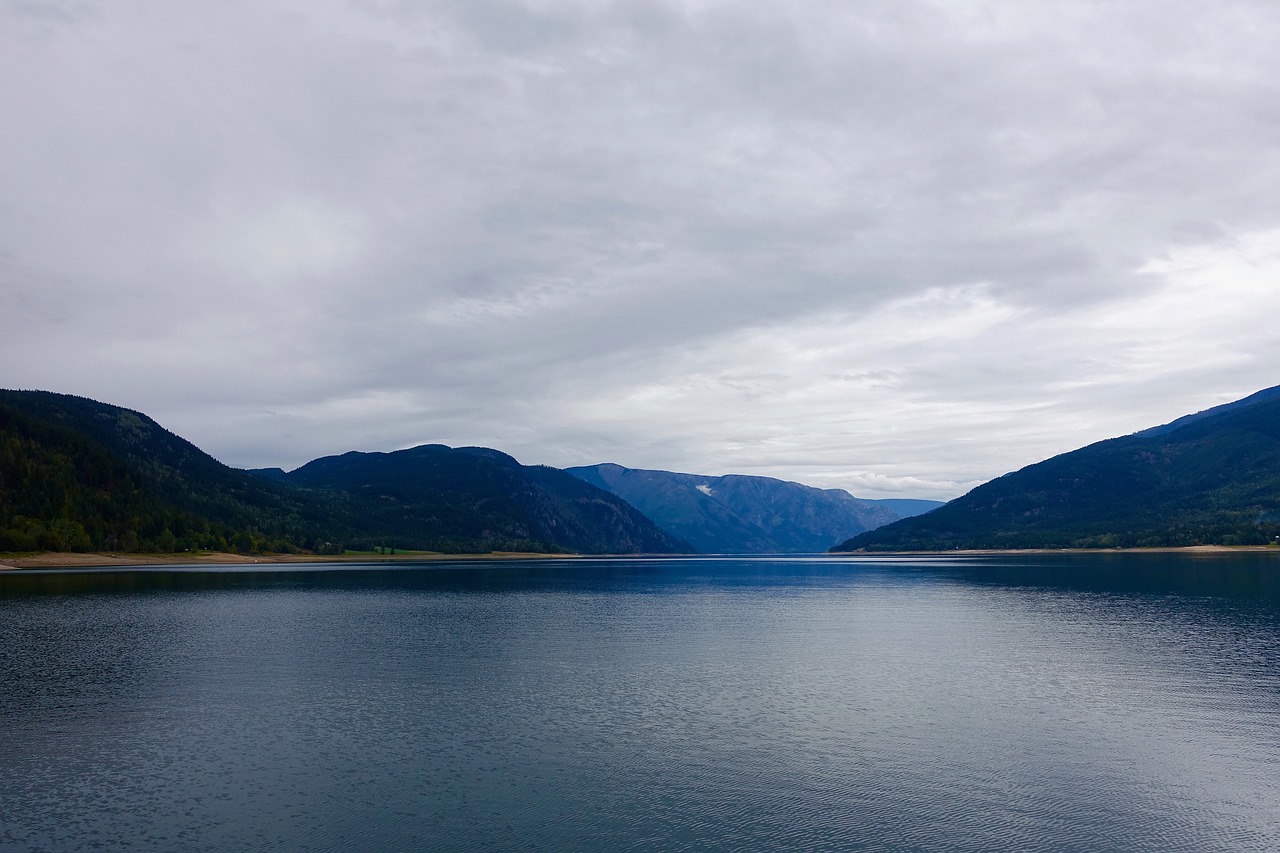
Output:
[[[312,543],[330,515],[140,412],[0,391],[0,551],[280,551]]]

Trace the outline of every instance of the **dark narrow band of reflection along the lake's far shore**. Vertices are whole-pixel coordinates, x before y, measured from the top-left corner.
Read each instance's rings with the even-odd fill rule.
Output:
[[[244,589],[552,589],[845,584],[851,576],[932,575],[956,583],[1280,602],[1280,551],[1044,553],[1016,557],[700,557],[401,564],[273,564],[0,571],[0,601],[22,596]]]

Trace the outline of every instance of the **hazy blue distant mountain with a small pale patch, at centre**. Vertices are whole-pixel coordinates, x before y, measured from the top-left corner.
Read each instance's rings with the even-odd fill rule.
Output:
[[[813,553],[901,517],[842,489],[768,476],[699,476],[603,464],[564,469],[704,553]]]

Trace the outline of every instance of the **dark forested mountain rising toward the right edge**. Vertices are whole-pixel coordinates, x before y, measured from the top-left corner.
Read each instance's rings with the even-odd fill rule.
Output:
[[[1280,387],[1089,444],[835,551],[1263,544],[1280,535]]]

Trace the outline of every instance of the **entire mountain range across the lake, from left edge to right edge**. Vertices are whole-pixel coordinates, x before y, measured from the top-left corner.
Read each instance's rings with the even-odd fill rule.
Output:
[[[1062,453],[950,503],[492,448],[223,465],[151,418],[0,391],[0,552],[814,553],[1280,542],[1280,388]]]

